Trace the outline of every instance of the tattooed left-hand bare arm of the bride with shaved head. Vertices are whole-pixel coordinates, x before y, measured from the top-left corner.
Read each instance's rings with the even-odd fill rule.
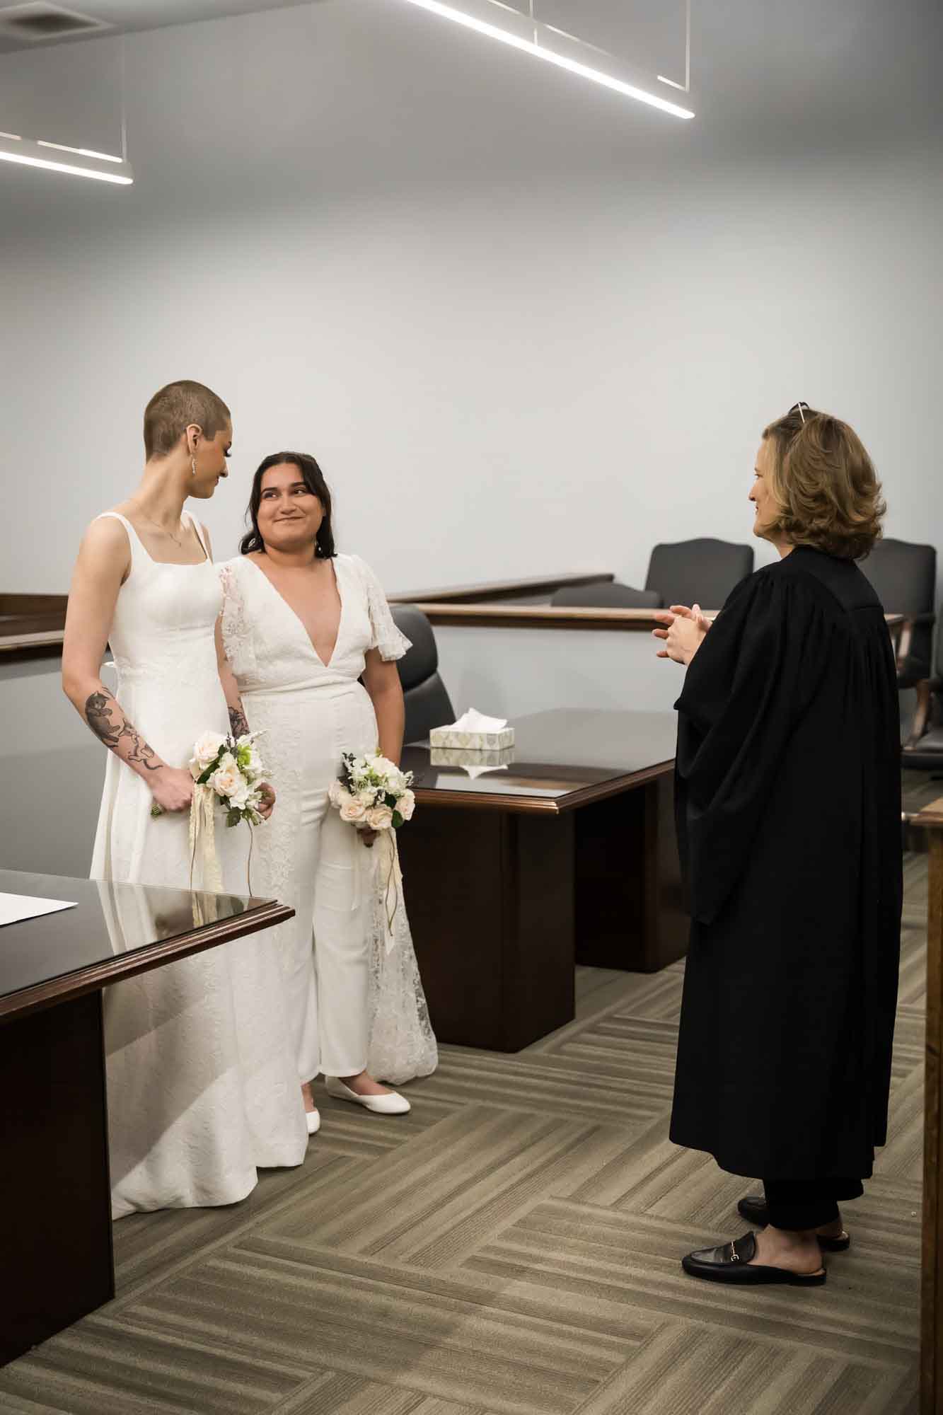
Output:
[[[193,797],[188,771],[168,767],[144,741],[101,676],[118,594],[130,573],[127,532],[120,521],[93,521],[72,573],[62,644],[62,691],[99,741],[147,782],[164,811],[185,811]]]

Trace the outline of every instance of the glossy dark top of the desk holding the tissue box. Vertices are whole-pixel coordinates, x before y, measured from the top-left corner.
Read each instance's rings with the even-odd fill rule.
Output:
[[[408,746],[402,766],[415,774],[418,805],[559,814],[674,766],[673,712],[554,709],[508,726],[514,746],[494,766],[486,753]]]

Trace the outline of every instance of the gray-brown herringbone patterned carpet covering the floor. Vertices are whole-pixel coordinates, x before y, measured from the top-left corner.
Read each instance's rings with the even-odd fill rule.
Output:
[[[825,1288],[684,1276],[748,1186],[667,1139],[682,966],[582,969],[576,1022],[443,1049],[409,1116],[321,1092],[302,1169],[122,1220],[118,1299],[0,1371],[0,1411],[916,1411],[925,923],[909,856],[891,1139]]]

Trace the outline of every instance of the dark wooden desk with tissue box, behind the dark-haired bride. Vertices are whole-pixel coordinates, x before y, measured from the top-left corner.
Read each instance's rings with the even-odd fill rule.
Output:
[[[575,962],[654,972],[688,938],[674,713],[542,712],[514,729],[514,761],[477,777],[428,746],[404,753],[418,809],[399,849],[432,1024],[497,1051],[572,1020]]]

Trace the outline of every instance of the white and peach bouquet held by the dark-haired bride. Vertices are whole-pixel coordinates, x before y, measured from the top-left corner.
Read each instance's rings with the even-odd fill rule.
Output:
[[[396,831],[412,819],[416,798],[411,791],[412,771],[401,771],[388,757],[371,753],[355,757],[343,754],[343,773],[331,781],[328,799],[358,831],[377,831],[379,848],[387,856],[387,880],[382,889],[384,932],[387,952],[395,944],[394,920],[402,900],[402,870],[396,849]]]

